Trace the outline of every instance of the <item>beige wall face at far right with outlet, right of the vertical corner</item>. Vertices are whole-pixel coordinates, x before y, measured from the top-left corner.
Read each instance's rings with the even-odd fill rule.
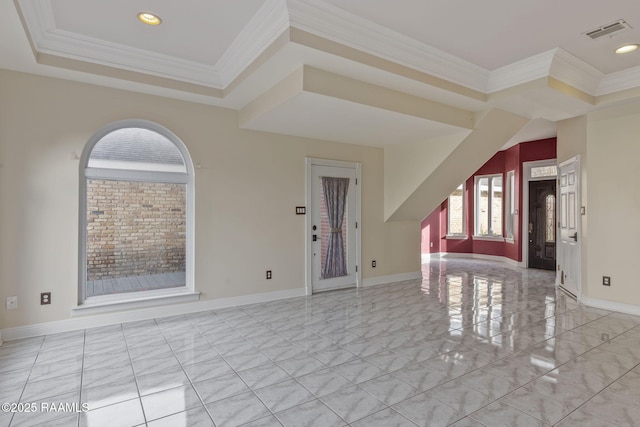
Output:
[[[640,103],[590,114],[587,150],[588,296],[640,306]]]

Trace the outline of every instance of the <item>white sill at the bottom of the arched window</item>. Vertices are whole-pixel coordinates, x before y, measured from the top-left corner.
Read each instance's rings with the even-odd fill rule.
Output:
[[[71,316],[86,316],[136,308],[156,307],[165,304],[198,301],[200,299],[200,292],[193,292],[183,288],[179,291],[172,290],[170,293],[166,291],[148,291],[129,295],[121,294],[117,297],[106,295],[105,297],[88,298],[84,304],[71,308]]]

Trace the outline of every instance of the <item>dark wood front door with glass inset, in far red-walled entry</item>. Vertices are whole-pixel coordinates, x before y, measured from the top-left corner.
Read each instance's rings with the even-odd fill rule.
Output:
[[[556,180],[529,182],[529,268],[555,270]]]

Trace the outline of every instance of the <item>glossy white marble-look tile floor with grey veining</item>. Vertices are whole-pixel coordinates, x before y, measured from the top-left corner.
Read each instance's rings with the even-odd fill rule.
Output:
[[[640,317],[552,272],[477,260],[423,280],[0,347],[0,426],[632,426]]]

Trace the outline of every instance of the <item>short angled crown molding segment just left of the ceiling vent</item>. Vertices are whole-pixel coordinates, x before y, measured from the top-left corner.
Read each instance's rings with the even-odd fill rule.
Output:
[[[548,50],[493,70],[487,83],[487,93],[548,77],[555,53],[556,49]]]

